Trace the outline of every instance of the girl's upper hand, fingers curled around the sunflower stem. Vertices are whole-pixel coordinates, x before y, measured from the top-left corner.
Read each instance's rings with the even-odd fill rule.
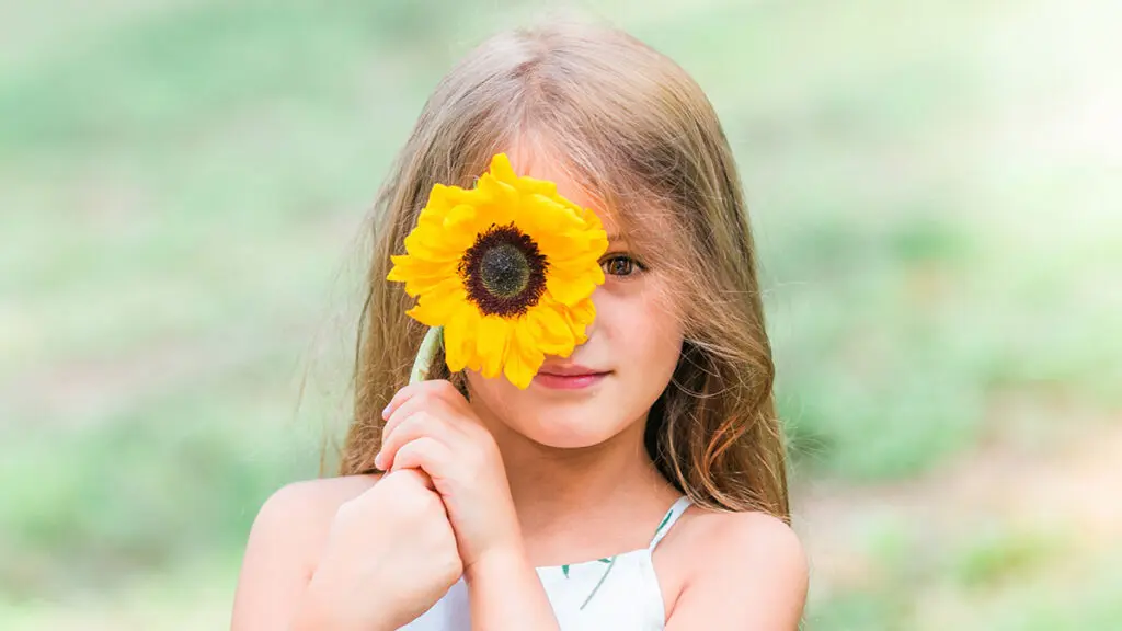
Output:
[[[403,387],[383,417],[387,420],[375,466],[429,474],[448,509],[467,578],[480,560],[521,554],[518,518],[498,446],[450,382]]]

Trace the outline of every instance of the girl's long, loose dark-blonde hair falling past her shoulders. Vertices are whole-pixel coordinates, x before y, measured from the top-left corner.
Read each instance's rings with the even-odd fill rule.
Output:
[[[388,283],[434,183],[470,186],[497,152],[555,147],[573,181],[675,281],[686,332],[645,443],[700,505],[790,520],[755,249],[732,150],[712,106],[665,56],[618,30],[565,24],[495,36],[436,86],[374,210],[342,475],[370,473],[380,411],[408,381],[424,327]],[[687,307],[688,305],[688,307]],[[449,375],[442,358],[436,377]],[[460,382],[462,383],[462,382]]]

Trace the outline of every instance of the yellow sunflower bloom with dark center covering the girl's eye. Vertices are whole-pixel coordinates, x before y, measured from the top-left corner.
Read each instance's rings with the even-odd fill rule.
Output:
[[[473,189],[433,186],[387,278],[417,298],[406,313],[432,327],[426,340],[443,335],[450,371],[525,388],[545,354],[568,357],[588,339],[607,247],[595,212],[498,154]]]

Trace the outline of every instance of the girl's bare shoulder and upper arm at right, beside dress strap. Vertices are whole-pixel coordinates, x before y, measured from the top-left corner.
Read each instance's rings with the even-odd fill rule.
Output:
[[[763,513],[710,515],[666,631],[792,631],[807,600],[802,546],[782,521]]]

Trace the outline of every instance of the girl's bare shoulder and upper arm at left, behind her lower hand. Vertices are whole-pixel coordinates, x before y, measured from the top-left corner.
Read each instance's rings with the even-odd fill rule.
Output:
[[[315,571],[339,507],[380,475],[307,479],[270,495],[254,520],[234,595],[232,629],[287,628]]]

